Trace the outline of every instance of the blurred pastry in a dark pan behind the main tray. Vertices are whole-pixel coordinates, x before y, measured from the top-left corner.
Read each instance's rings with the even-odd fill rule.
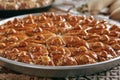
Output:
[[[54,0],[0,0],[0,18],[45,12]]]

